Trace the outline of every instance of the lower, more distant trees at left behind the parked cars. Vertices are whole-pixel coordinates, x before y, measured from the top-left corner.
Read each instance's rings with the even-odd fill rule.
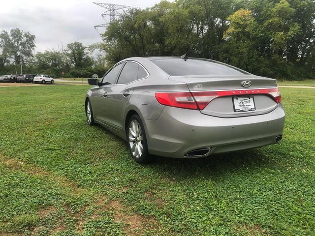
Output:
[[[105,59],[102,53],[91,56],[93,48],[80,42],[61,45],[59,49],[34,53],[35,35],[20,29],[0,33],[0,75],[48,74],[54,78],[92,77],[103,75]]]

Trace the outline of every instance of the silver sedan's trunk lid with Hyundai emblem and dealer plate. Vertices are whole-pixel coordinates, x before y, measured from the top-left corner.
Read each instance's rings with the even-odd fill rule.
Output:
[[[245,117],[266,114],[279,106],[273,96],[279,92],[274,79],[244,74],[170,76],[170,80],[187,84],[197,103],[201,104],[199,110],[204,115]],[[207,99],[212,100],[206,102]]]

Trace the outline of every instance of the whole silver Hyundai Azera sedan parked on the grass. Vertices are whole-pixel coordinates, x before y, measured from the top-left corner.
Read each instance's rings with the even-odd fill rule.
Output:
[[[277,81],[210,59],[128,58],[88,90],[87,121],[125,139],[132,158],[204,157],[279,143]]]

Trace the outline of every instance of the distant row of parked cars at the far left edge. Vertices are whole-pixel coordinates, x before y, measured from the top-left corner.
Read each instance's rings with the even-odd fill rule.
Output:
[[[49,75],[1,75],[0,82],[10,83],[54,83]]]

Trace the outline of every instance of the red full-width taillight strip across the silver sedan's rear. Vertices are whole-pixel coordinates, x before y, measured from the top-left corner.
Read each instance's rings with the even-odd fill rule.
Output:
[[[266,94],[271,96],[276,103],[281,102],[281,95],[278,88],[193,92],[156,92],[155,96],[158,102],[165,106],[203,110],[213,99],[217,97],[250,94]]]

